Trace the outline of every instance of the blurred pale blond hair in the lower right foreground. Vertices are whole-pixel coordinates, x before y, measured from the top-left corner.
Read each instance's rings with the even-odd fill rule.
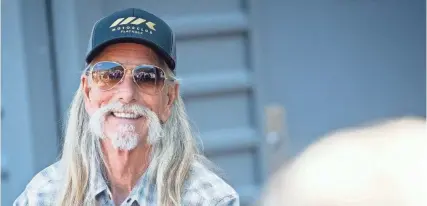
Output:
[[[270,179],[261,205],[427,205],[425,119],[388,120],[320,138]]]

